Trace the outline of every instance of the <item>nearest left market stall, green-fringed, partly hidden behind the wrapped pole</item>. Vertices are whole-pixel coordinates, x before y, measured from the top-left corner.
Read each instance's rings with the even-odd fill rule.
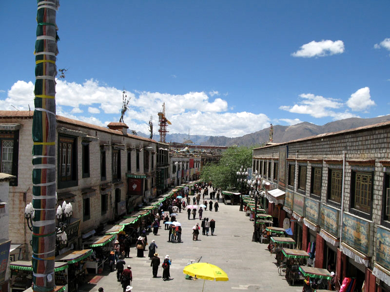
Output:
[[[18,260],[11,262],[11,292],[25,291],[33,283],[33,266],[31,260]],[[54,276],[57,287],[55,291],[68,291],[68,264],[54,263]],[[32,290],[31,290],[32,291]]]

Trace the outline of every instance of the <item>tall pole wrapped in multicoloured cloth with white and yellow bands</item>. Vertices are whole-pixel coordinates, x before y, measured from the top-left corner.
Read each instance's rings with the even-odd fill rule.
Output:
[[[56,249],[56,55],[58,0],[38,0],[33,117],[33,290],[54,291]]]

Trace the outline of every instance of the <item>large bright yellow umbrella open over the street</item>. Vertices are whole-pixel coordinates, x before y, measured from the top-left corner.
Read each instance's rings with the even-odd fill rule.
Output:
[[[194,263],[188,265],[183,270],[184,274],[203,279],[203,288],[205,280],[229,281],[228,274],[221,268],[209,263]]]

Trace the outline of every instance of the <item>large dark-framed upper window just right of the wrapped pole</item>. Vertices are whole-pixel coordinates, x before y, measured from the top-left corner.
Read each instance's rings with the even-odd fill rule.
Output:
[[[77,138],[59,136],[59,188],[77,185]]]

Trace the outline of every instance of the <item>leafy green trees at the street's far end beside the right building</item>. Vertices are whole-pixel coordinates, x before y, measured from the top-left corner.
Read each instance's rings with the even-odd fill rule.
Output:
[[[218,164],[204,165],[200,180],[212,182],[216,188],[232,190],[238,188],[236,172],[241,165],[244,168],[252,167],[252,149],[258,146],[233,146],[222,153]]]

